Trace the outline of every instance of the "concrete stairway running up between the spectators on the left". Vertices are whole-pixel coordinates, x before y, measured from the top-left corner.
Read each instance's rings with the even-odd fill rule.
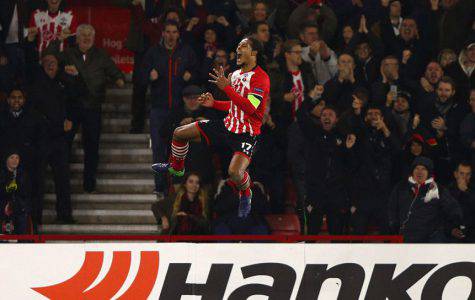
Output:
[[[157,234],[150,210],[156,201],[150,169],[149,134],[129,134],[132,90],[109,89],[103,105],[97,191],[82,190],[84,152],[76,136],[71,162],[73,216],[77,223],[55,224],[56,195],[51,176],[46,181],[43,233],[51,234]],[[148,122],[146,126],[148,132]]]

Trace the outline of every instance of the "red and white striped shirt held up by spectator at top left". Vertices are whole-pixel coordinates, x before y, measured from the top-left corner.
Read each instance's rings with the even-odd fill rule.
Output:
[[[77,18],[71,10],[52,14],[47,10],[37,9],[31,14],[30,27],[38,28],[38,52],[41,55],[52,41],[59,38],[63,29],[69,28],[71,33],[76,33]],[[64,42],[61,43],[61,51],[63,48]]]

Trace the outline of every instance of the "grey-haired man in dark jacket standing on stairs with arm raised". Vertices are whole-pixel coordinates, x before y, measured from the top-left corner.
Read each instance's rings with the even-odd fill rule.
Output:
[[[83,82],[84,88],[78,99],[82,108],[77,113],[77,122],[70,132],[69,143],[72,144],[81,126],[81,141],[84,148],[83,188],[88,193],[96,190],[102,122],[101,106],[105,100],[107,79],[112,79],[118,87],[125,85],[122,72],[105,50],[95,46],[94,41],[94,27],[88,24],[79,25],[77,46],[66,48],[60,55],[65,65],[65,72]],[[58,41],[52,42],[51,45],[52,49],[59,53]]]

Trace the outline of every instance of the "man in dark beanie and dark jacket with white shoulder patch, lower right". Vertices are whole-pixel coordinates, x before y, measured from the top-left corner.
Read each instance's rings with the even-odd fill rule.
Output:
[[[433,177],[434,163],[418,156],[411,165],[408,179],[398,183],[389,200],[389,228],[402,234],[406,243],[443,243],[450,235],[464,238],[462,210],[448,190]]]

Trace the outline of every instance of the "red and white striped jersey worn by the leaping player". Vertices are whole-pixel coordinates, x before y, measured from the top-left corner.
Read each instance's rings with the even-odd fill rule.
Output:
[[[249,72],[234,71],[231,75],[231,86],[226,87],[224,91],[231,100],[224,126],[232,133],[259,135],[270,92],[267,73],[259,66]],[[234,92],[238,96],[235,96]]]

